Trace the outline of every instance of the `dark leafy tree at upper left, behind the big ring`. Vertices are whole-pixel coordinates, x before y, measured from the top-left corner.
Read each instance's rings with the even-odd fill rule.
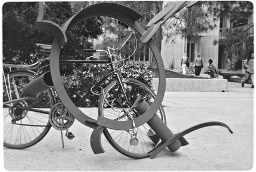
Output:
[[[46,2],[44,20],[50,20],[61,26],[74,14],[69,2]],[[20,61],[29,64],[30,54],[35,53],[35,43],[52,43],[51,33],[39,30],[30,32],[37,16],[38,3],[7,2],[3,5],[3,57],[6,61],[11,61],[18,55]],[[82,58],[83,49],[92,47],[88,39],[102,34],[101,25],[101,18],[80,22],[68,33],[68,43],[62,50],[63,56]]]

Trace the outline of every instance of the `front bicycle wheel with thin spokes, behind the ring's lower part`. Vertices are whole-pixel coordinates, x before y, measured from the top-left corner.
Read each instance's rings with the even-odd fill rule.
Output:
[[[145,99],[148,104],[151,104],[154,101],[156,95],[154,91],[152,91],[147,85],[133,78],[124,78],[124,83],[126,85],[126,95],[129,98],[131,104],[134,104],[138,95],[141,95],[143,99]],[[109,119],[117,119],[119,114],[117,111],[119,108],[129,108],[127,102],[122,95],[124,94],[119,86],[120,83],[118,81],[113,81],[104,89],[104,94],[101,95],[98,106],[98,114],[104,116]],[[112,101],[112,102],[111,102]],[[109,102],[109,103],[106,103]],[[112,104],[110,104],[110,102]],[[126,104],[124,104],[126,102]],[[111,106],[110,106],[111,105]],[[119,110],[120,111],[120,110]],[[122,112],[124,114],[125,112]],[[133,114],[133,118],[135,117],[135,113]],[[164,114],[163,107],[159,107],[159,111],[156,113],[163,121],[166,123],[166,116]],[[121,115],[122,116],[122,115]],[[131,120],[129,119],[129,115],[125,116],[119,120]],[[158,148],[161,144],[160,140],[157,143],[154,143],[150,137],[147,136],[148,131],[150,131],[150,127],[147,123],[136,127],[137,139],[139,144],[135,146],[130,145],[130,132],[126,130],[116,131],[112,129],[105,129],[104,135],[109,143],[116,149],[119,153],[131,158],[146,158],[149,157],[151,152]],[[151,130],[152,131],[152,130]]]

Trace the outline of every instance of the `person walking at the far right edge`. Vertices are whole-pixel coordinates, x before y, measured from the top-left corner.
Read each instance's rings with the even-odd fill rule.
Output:
[[[245,69],[245,75],[241,79],[242,87],[245,83],[251,78],[251,88],[254,88],[254,54],[247,57],[244,64],[243,69]]]

